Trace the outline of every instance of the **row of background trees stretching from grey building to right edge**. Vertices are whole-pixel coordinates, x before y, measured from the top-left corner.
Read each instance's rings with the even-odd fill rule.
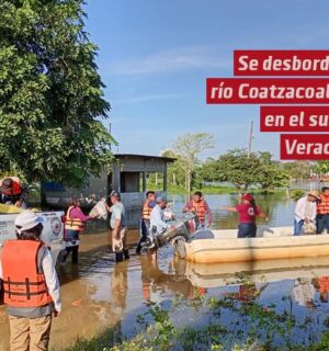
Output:
[[[182,186],[186,192],[202,188],[205,183],[229,183],[238,191],[250,186],[263,190],[286,188],[291,181],[309,180],[313,174],[321,177],[329,173],[329,161],[274,160],[269,151],[250,151],[235,148],[217,158],[201,161],[200,155],[214,147],[214,136],[207,133],[185,134],[175,139],[162,156],[173,157],[169,166],[170,185]]]

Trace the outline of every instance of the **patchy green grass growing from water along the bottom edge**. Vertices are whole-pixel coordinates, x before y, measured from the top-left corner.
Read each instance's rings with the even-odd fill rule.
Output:
[[[184,314],[193,308],[197,316],[206,315],[202,326],[177,325],[171,314]],[[232,315],[227,322],[222,315]],[[325,351],[329,350],[329,332],[315,336],[311,324],[297,321],[288,310],[275,312],[274,305],[263,306],[254,301],[240,302],[225,297],[196,297],[164,308],[149,303],[148,310],[138,316],[139,333],[131,340],[117,338],[113,330],[91,340],[77,340],[68,351]],[[325,327],[325,326],[324,326]],[[303,330],[303,337],[297,337]],[[304,338],[307,337],[307,338]]]

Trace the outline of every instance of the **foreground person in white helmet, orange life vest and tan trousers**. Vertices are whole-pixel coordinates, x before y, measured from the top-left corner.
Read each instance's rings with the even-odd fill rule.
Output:
[[[41,240],[44,218],[32,211],[19,214],[16,240],[4,242],[0,279],[10,325],[10,349],[48,350],[53,316],[61,309],[52,253]]]

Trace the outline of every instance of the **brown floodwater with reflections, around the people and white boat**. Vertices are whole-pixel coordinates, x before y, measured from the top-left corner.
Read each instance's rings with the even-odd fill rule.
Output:
[[[230,195],[206,196],[214,208],[214,227],[235,228],[236,215],[220,212],[223,205],[231,205]],[[183,197],[170,199],[180,213]],[[260,197],[259,204],[269,213],[271,225],[291,225],[294,202],[280,196]],[[240,272],[251,270],[249,263],[192,264],[173,259],[171,247],[159,251],[158,263],[147,256],[136,256],[134,245],[138,231],[129,231],[131,259],[114,262],[109,249],[107,234],[82,236],[80,263],[68,262],[60,269],[63,313],[54,320],[50,346],[65,350],[77,338],[92,338],[113,327],[127,338],[138,326],[136,317],[146,312],[146,302],[170,303],[177,297],[191,301],[197,287],[198,294],[208,296],[235,296],[239,301],[257,301],[265,306],[275,304],[279,312],[290,310],[300,320],[311,320],[311,335],[324,331],[329,316],[329,258],[277,260],[253,262],[246,282]],[[238,273],[238,274],[237,274]],[[232,315],[223,316],[229,324]],[[202,325],[203,315],[193,310],[175,316],[175,322]],[[295,330],[296,340],[308,335]],[[316,337],[314,337],[316,338]],[[305,341],[306,342],[306,341]],[[9,349],[9,326],[4,307],[0,307],[0,350]]]

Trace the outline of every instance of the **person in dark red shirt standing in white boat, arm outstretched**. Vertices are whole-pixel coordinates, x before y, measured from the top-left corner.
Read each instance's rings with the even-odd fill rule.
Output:
[[[265,217],[266,215],[262,210],[256,205],[252,194],[246,193],[241,196],[241,203],[235,207],[222,207],[220,210],[238,212],[239,214],[239,229],[238,238],[254,238],[257,226],[257,217]]]

